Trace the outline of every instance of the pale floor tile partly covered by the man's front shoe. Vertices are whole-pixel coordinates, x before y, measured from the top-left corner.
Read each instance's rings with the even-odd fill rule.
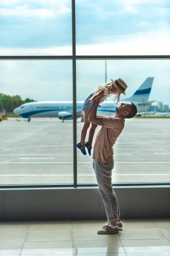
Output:
[[[119,240],[118,234],[98,235],[97,230],[73,230],[73,240]]]

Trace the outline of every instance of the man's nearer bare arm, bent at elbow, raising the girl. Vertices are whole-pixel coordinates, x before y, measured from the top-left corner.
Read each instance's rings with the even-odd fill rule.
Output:
[[[88,116],[88,121],[95,125],[103,125],[103,119],[105,117],[97,116],[97,108],[99,106],[100,98],[95,99],[94,105],[91,108],[90,114]]]

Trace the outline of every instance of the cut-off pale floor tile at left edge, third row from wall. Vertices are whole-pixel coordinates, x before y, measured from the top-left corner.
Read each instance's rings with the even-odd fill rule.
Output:
[[[20,255],[23,242],[0,242],[1,255]]]

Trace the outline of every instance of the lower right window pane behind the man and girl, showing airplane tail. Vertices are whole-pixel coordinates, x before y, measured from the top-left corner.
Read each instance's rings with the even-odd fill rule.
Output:
[[[113,183],[170,182],[170,60],[108,60],[106,64],[105,70],[104,60],[77,61],[77,101],[83,105],[86,97],[105,84],[105,77],[107,82],[121,77],[128,85],[121,101],[134,102],[140,116],[125,120],[125,128],[114,145]],[[100,105],[99,115],[115,114],[112,96]],[[83,124],[78,118],[77,142]],[[83,155],[77,149],[77,161],[78,183],[96,183],[88,152]]]

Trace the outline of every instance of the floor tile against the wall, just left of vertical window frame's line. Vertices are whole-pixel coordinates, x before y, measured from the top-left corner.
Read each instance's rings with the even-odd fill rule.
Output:
[[[29,231],[32,230],[71,230],[71,220],[35,220],[31,221]]]

